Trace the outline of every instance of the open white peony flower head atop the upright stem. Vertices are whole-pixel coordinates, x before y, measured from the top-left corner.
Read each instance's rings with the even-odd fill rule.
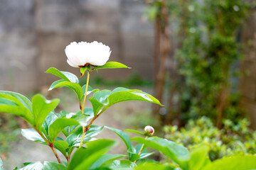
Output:
[[[68,64],[72,67],[86,67],[88,64],[102,66],[110,58],[110,47],[102,42],[71,42],[65,48]]]

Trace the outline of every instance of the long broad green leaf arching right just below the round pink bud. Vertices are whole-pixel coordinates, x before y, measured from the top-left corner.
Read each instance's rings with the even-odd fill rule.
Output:
[[[146,147],[162,152],[174,162],[179,164],[181,168],[186,169],[188,166],[188,160],[190,154],[186,147],[176,144],[175,142],[164,140],[160,137],[149,137],[144,139],[143,137],[133,137],[131,140],[144,144]]]

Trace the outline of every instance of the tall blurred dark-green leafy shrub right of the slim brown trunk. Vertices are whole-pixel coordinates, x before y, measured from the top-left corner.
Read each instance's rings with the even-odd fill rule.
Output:
[[[229,99],[235,94],[230,89],[237,88],[231,80],[238,79],[233,66],[241,58],[235,31],[245,19],[246,1],[190,0],[178,1],[176,6],[181,47],[175,56],[181,75],[177,87],[182,119],[207,115],[216,120],[222,113],[228,118],[230,108],[235,110],[232,118],[240,116],[238,102]]]

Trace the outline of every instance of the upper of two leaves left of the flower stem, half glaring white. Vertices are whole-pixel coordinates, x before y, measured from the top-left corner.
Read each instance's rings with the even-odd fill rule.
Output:
[[[72,83],[79,84],[78,77],[75,76],[75,74],[72,74],[70,72],[61,72],[60,70],[50,67],[46,73],[53,74],[57,77],[60,77],[61,79],[65,79],[67,81],[70,81]]]

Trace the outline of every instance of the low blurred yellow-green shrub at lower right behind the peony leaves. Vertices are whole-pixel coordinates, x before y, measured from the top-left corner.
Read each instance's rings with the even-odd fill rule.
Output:
[[[181,130],[176,126],[166,126],[164,131],[167,139],[188,149],[193,150],[201,144],[209,146],[208,156],[211,160],[256,152],[256,132],[250,130],[246,119],[240,120],[236,125],[230,120],[225,120],[223,129],[218,130],[209,118],[203,117],[196,121],[190,120]]]

